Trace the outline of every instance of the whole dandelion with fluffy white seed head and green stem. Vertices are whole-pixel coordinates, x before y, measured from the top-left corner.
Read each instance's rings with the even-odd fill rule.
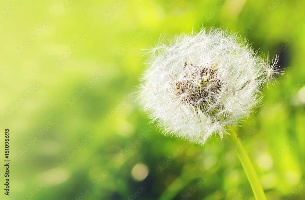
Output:
[[[262,98],[262,86],[272,85],[281,73],[277,57],[270,65],[269,57],[257,55],[246,40],[221,29],[181,34],[168,44],[160,40],[147,55],[148,69],[139,92],[143,110],[164,134],[199,144],[212,134],[223,138],[231,131],[232,144],[241,145],[228,127],[249,116]],[[255,171],[240,149],[243,152],[237,153],[246,162],[243,166],[249,167],[245,169],[249,177]],[[260,185],[253,176],[251,186]],[[253,189],[256,198],[266,199],[259,188],[258,192]]]

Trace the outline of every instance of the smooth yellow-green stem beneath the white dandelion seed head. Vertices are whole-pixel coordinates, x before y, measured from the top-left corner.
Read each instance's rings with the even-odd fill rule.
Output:
[[[260,180],[258,179],[254,167],[249,159],[249,156],[247,155],[244,147],[242,146],[242,142],[240,142],[238,135],[236,134],[235,130],[232,127],[230,127],[230,135],[228,135],[228,137],[231,141],[233,148],[236,149],[236,154],[239,157],[239,160],[242,163],[242,167],[246,172],[255,199],[267,200],[264,190],[260,184]]]

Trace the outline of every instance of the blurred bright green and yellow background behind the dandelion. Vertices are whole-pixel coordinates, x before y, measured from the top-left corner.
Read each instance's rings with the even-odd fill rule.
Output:
[[[216,26],[279,55],[286,76],[238,134],[267,199],[304,200],[304,8],[302,0],[2,0],[0,120],[11,166],[1,199],[254,200],[227,137],[204,146],[164,137],[133,94],[142,49],[160,34]]]

